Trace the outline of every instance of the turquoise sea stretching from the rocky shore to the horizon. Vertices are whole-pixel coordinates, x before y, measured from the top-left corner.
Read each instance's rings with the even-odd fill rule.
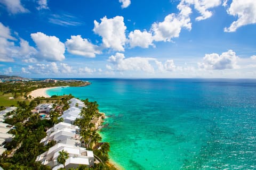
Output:
[[[256,80],[86,80],[47,94],[96,100],[125,169],[256,169]]]

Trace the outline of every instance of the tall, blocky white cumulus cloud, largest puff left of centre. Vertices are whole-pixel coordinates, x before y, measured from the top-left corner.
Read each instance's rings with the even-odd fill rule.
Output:
[[[123,16],[115,16],[111,19],[107,19],[105,16],[101,19],[101,23],[94,20],[93,31],[102,37],[103,45],[106,48],[124,51],[125,30]]]

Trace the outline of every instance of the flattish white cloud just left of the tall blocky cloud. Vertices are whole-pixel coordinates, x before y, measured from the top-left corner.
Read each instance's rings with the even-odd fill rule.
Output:
[[[71,54],[81,55],[85,57],[95,57],[95,54],[101,54],[98,46],[93,45],[87,39],[83,39],[80,35],[71,36],[65,43],[67,50]]]

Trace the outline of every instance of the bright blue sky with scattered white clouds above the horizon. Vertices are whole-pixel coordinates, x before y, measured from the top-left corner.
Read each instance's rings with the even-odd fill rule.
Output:
[[[256,78],[255,0],[0,0],[0,74]]]

